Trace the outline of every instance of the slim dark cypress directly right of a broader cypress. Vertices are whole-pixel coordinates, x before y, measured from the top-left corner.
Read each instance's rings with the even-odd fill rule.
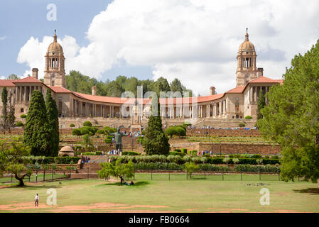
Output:
[[[58,156],[59,151],[59,118],[58,107],[52,98],[51,90],[48,89],[45,96],[45,108],[48,115],[48,123],[50,127],[50,145],[52,157]]]

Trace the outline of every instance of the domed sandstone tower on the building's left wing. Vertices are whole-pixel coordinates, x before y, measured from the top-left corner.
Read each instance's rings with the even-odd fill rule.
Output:
[[[45,55],[45,85],[65,87],[64,61],[63,48],[57,42],[57,35],[54,33],[53,43],[49,45]]]

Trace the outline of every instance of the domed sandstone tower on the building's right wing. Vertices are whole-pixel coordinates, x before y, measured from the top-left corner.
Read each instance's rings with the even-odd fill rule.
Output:
[[[236,87],[244,86],[252,79],[262,76],[263,69],[256,68],[256,51],[254,44],[249,41],[248,28],[244,43],[239,46],[237,55]]]

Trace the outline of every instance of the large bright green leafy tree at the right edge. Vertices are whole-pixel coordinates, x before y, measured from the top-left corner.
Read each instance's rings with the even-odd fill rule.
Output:
[[[304,55],[296,55],[266,94],[259,131],[281,146],[281,179],[319,180],[319,40]]]

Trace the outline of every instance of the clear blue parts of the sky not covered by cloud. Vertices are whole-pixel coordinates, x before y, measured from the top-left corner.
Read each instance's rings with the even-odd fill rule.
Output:
[[[100,11],[104,11],[109,0],[11,0],[0,1],[0,76],[9,74],[22,75],[28,70],[25,64],[17,62],[20,48],[31,36],[42,38],[44,35],[53,35],[57,29],[58,35],[71,35],[77,39],[79,45],[87,45],[85,33],[90,26],[92,18]],[[48,21],[47,5],[56,4],[57,21]],[[132,67],[121,63],[121,67],[114,67],[105,72],[103,79],[114,79],[119,74],[151,78],[150,67]],[[100,78],[101,79],[101,78]]]

